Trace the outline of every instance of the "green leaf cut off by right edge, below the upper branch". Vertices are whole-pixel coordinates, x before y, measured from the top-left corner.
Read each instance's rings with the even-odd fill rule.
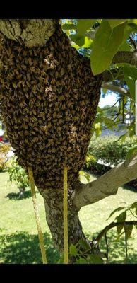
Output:
[[[129,86],[129,91],[133,100],[135,101],[135,82],[137,79],[137,69],[129,64],[124,66],[124,78]]]

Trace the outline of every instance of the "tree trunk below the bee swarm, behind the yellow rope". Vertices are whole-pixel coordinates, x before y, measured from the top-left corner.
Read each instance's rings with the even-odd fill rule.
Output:
[[[71,199],[72,192],[68,192],[68,243],[78,243],[80,238],[84,238],[81,222],[78,218],[78,210],[73,206]],[[61,252],[64,249],[64,226],[63,226],[63,194],[52,190],[42,193],[46,219],[52,233],[54,246]]]

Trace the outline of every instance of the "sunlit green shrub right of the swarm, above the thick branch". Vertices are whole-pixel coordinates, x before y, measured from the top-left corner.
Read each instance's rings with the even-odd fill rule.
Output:
[[[101,159],[104,163],[109,163],[109,166],[116,166],[126,158],[126,154],[132,146],[137,145],[137,137],[127,137],[125,141],[117,141],[119,137],[116,136],[104,136],[92,138],[88,147],[88,156],[94,156],[86,164],[90,166],[97,163]]]

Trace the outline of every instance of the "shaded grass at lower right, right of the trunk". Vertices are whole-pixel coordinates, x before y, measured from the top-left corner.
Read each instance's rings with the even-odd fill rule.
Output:
[[[85,233],[87,238],[91,238],[91,236],[87,233]],[[95,233],[94,237],[96,237],[98,233]],[[119,241],[116,241],[117,238],[117,232],[115,229],[111,229],[109,232],[107,232],[107,242],[109,245],[109,264],[117,264],[117,263],[124,263],[125,259],[125,240],[124,236],[119,238]],[[127,241],[127,248],[128,248],[128,260],[126,263],[137,263],[137,251],[133,249],[133,238],[130,238],[130,243]],[[105,238],[103,237],[100,241],[100,251],[102,253],[106,253],[106,243]]]

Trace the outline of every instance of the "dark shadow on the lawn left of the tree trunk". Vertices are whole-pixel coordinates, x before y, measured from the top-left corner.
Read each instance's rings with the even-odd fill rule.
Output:
[[[44,233],[44,244],[48,262],[56,263],[59,252],[48,233]],[[42,263],[38,236],[27,232],[0,236],[0,263]]]

